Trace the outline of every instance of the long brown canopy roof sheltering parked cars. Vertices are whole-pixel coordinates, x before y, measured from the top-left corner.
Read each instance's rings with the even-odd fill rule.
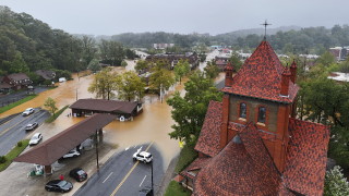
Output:
[[[115,115],[96,113],[29,149],[14,161],[50,166],[113,119]]]

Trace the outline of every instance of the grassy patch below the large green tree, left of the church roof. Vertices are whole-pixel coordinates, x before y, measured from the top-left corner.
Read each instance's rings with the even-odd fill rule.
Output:
[[[197,157],[194,146],[185,145],[179,155],[174,172],[179,173],[184,170]]]

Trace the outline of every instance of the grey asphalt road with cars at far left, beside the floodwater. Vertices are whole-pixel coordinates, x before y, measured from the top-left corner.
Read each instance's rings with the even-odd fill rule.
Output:
[[[34,113],[28,117],[17,114],[10,121],[0,125],[0,156],[8,154],[17,142],[25,138],[33,131],[26,132],[25,126],[28,123],[37,122],[40,126],[50,114],[46,110],[35,108]]]

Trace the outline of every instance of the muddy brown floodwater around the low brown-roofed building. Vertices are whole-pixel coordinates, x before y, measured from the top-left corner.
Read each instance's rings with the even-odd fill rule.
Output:
[[[115,71],[123,72],[124,69],[118,68],[115,69]],[[77,75],[74,74],[73,78],[73,81],[56,84],[58,86],[57,88],[40,93],[35,99],[0,114],[0,118],[22,112],[26,108],[31,107],[44,108],[44,102],[48,97],[55,99],[57,102],[56,106],[60,109],[67,105],[72,105],[76,100],[76,90],[79,99],[94,98],[94,95],[87,91],[94,75],[87,75],[77,79]],[[183,83],[181,85],[177,85],[172,89],[183,89]],[[167,97],[170,96],[172,91],[169,91]],[[168,133],[172,131],[171,125],[174,123],[171,119],[171,107],[169,107],[166,101],[161,103],[158,96],[155,95],[147,95],[143,100],[143,113],[134,118],[133,121],[113,121],[108,124],[104,128],[104,140],[106,143],[115,144],[121,149],[154,142],[164,156],[164,166],[167,167],[169,161],[180,150],[178,140],[170,139],[168,135]],[[68,117],[70,112],[71,110],[67,109],[55,122],[49,124],[45,123],[40,126],[40,132],[45,138],[53,136],[85,119]]]

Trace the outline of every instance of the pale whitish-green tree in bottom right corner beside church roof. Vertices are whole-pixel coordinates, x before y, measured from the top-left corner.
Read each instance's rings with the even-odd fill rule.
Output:
[[[349,183],[342,174],[339,166],[326,171],[324,196],[347,196],[349,195]]]

